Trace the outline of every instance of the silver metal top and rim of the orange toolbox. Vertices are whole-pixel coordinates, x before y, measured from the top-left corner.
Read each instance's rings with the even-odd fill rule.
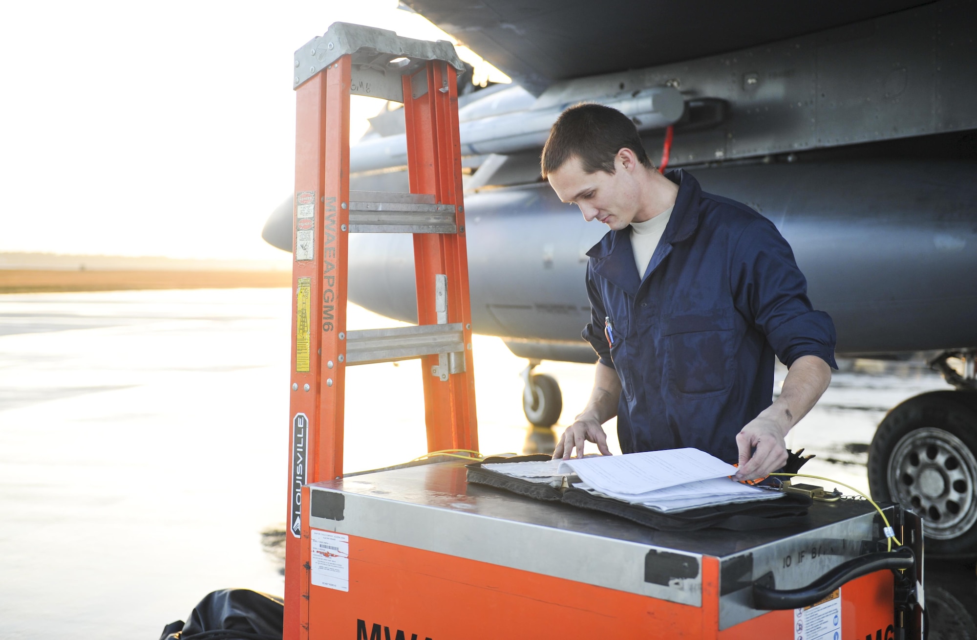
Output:
[[[720,627],[763,612],[752,581],[796,588],[865,553],[870,504],[815,503],[808,526],[659,531],[615,516],[469,483],[464,463],[420,464],[310,485],[309,525],[701,606],[702,557],[719,560]],[[786,557],[794,558],[786,563]]]

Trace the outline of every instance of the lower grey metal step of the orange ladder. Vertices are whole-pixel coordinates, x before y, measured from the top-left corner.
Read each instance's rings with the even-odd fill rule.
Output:
[[[370,364],[464,351],[461,323],[364,329],[346,335],[346,364]]]

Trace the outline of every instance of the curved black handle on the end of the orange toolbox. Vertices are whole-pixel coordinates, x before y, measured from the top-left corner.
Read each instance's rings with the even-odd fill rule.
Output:
[[[853,558],[799,589],[775,588],[773,575],[768,573],[753,583],[753,608],[776,611],[808,607],[824,600],[849,580],[883,569],[913,569],[914,566],[913,551],[903,547]]]

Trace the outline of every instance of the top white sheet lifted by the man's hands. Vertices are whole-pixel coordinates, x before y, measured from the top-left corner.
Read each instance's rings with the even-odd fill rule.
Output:
[[[558,470],[572,471],[602,493],[629,495],[736,473],[733,465],[693,448],[564,460]]]

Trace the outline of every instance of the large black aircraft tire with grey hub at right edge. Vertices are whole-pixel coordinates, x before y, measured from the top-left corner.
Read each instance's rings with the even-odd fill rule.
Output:
[[[923,517],[927,555],[977,557],[977,394],[932,391],[889,411],[869,447],[869,486]]]

